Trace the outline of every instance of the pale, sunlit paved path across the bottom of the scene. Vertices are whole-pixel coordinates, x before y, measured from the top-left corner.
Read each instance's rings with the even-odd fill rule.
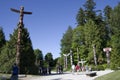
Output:
[[[46,76],[28,76],[26,78],[20,78],[20,80],[94,80],[98,76],[102,76],[105,74],[108,74],[110,72],[113,72],[111,70],[105,70],[105,71],[97,71],[97,76],[95,77],[89,77],[85,75],[85,72],[79,72],[77,73],[70,73],[66,72],[64,74],[53,74],[53,75],[46,75]]]

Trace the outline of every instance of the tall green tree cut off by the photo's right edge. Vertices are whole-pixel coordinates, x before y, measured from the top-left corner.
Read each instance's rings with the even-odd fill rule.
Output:
[[[110,26],[112,29],[112,52],[111,68],[117,69],[120,66],[120,3],[113,9],[110,16]]]

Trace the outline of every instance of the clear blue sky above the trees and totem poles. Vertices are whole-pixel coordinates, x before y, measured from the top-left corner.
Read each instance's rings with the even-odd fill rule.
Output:
[[[120,0],[94,0],[96,9],[103,10],[106,5],[114,7]],[[76,15],[86,0],[0,0],[0,26],[3,27],[5,37],[9,40],[17,28],[19,14],[10,8],[33,12],[24,15],[24,24],[30,33],[34,49],[40,49],[45,55],[48,52],[53,58],[60,56],[60,40],[68,26],[76,27]]]

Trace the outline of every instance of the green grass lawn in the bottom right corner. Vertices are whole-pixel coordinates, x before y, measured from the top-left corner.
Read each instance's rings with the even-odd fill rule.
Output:
[[[120,70],[97,77],[94,80],[120,80]]]

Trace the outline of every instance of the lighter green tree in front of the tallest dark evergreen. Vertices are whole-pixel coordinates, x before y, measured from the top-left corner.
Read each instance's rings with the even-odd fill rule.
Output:
[[[85,31],[85,45],[88,50],[88,61],[89,63],[94,62],[93,55],[93,45],[96,45],[96,55],[97,62],[101,63],[103,61],[103,43],[104,43],[104,35],[105,35],[105,27],[96,25],[94,21],[89,20],[84,26]],[[101,33],[102,32],[102,33]]]

